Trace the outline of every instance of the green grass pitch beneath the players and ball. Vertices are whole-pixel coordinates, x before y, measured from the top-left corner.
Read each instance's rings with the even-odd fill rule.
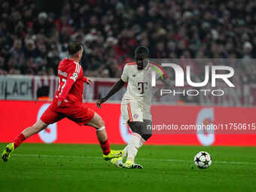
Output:
[[[5,148],[0,143],[0,148]],[[113,149],[123,145],[111,145]],[[194,166],[208,151],[209,169]],[[256,148],[151,146],[139,149],[145,169],[118,169],[102,159],[98,145],[23,144],[0,162],[5,192],[50,191],[255,191]]]

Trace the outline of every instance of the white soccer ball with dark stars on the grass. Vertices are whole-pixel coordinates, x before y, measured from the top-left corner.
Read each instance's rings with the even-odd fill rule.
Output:
[[[194,157],[195,165],[200,169],[206,169],[212,164],[212,157],[206,151],[200,151]]]

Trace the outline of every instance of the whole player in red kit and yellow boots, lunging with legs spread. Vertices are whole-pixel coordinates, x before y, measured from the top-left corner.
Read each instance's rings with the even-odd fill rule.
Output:
[[[2,153],[2,159],[7,162],[11,157],[12,151],[19,147],[22,142],[35,133],[44,130],[50,123],[62,120],[67,117],[69,120],[75,121],[80,126],[93,126],[96,128],[96,135],[103,151],[103,158],[111,160],[120,157],[123,151],[112,151],[108,143],[108,136],[105,131],[105,124],[102,117],[95,111],[87,108],[82,102],[82,94],[84,90],[84,82],[92,84],[90,78],[84,78],[83,69],[79,62],[83,55],[84,48],[80,43],[70,43],[68,46],[69,56],[59,62],[58,67],[58,89],[56,90],[53,102],[44,111],[40,120],[34,125],[29,126],[9,143],[5,151]]]

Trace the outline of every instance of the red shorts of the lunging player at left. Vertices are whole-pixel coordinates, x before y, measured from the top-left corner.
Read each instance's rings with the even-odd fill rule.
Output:
[[[94,113],[95,112],[90,108],[87,108],[84,103],[59,108],[54,108],[53,105],[50,105],[47,110],[44,111],[44,114],[42,114],[40,119],[44,123],[51,124],[67,117],[69,120],[82,126],[93,118]]]

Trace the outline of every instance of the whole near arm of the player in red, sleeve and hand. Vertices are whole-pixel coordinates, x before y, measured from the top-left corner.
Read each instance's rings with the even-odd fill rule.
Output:
[[[67,70],[68,76],[67,78],[62,78],[59,80],[59,98],[57,105],[61,105],[64,99],[66,99],[66,96],[69,93],[69,90],[71,89],[72,85],[75,83],[75,81],[78,78],[79,72],[81,70],[81,67],[78,66],[78,64],[72,65]],[[60,85],[64,81],[64,84]]]

